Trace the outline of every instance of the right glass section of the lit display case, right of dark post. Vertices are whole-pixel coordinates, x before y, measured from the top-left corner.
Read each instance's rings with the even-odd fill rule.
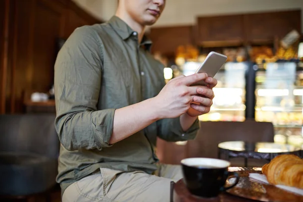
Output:
[[[256,72],[256,121],[275,126],[275,141],[303,143],[303,69],[295,62],[259,65]]]

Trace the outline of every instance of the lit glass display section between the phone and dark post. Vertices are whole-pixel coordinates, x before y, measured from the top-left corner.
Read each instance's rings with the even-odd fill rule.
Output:
[[[245,120],[245,72],[248,64],[227,62],[215,78],[215,97],[210,113],[201,115],[203,121],[244,121]],[[237,79],[235,79],[237,78]]]

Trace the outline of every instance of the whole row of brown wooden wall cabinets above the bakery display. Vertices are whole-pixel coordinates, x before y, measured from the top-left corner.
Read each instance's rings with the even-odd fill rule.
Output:
[[[151,28],[152,52],[174,58],[179,45],[202,47],[274,43],[292,29],[301,31],[300,10],[197,17],[193,26]]]

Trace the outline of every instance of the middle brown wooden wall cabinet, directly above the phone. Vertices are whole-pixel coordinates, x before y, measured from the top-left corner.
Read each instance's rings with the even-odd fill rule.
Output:
[[[197,44],[213,47],[243,43],[245,39],[243,19],[243,15],[199,17]]]

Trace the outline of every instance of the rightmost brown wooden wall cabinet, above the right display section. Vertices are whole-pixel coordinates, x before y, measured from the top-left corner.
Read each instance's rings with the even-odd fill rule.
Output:
[[[295,29],[301,32],[300,10],[247,14],[244,18],[246,40],[251,42],[272,41],[283,38]]]

